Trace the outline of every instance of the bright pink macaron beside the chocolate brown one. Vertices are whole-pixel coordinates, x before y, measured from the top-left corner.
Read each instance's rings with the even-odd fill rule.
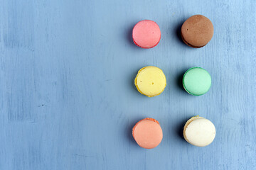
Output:
[[[157,23],[154,21],[139,21],[132,30],[132,39],[139,47],[155,47],[161,39],[161,31]]]

